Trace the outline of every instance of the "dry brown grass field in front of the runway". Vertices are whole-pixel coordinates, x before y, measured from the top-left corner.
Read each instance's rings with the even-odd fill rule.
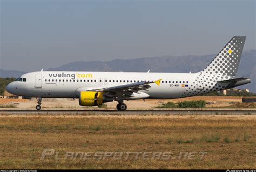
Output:
[[[256,168],[255,115],[0,116],[1,168]],[[207,152],[194,159],[57,160],[66,152]],[[54,155],[56,155],[56,152]]]

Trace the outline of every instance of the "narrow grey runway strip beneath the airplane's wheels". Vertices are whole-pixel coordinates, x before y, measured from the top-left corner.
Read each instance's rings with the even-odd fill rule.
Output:
[[[256,114],[256,110],[0,110],[0,114]]]

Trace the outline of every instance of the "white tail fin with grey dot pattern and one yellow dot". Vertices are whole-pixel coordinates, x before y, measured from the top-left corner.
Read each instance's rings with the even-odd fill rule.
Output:
[[[215,74],[224,76],[237,75],[238,66],[244,48],[246,37],[233,37],[226,46],[221,49],[201,74]]]

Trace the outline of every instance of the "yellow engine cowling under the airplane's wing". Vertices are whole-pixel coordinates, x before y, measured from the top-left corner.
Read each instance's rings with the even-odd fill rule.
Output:
[[[102,92],[81,91],[79,97],[80,106],[99,106],[103,103]]]

